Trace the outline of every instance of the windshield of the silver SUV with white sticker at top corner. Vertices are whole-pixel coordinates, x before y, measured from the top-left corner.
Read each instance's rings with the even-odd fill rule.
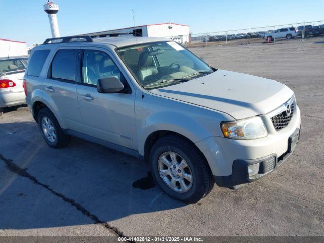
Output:
[[[138,44],[117,52],[145,88],[171,85],[213,72],[206,63],[174,41]]]

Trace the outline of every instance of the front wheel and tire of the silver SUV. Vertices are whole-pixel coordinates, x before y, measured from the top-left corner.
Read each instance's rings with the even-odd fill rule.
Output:
[[[174,160],[170,154],[175,155],[173,156]],[[169,167],[165,164],[164,158],[170,163]],[[184,166],[184,163],[180,163],[183,161],[182,159],[187,167]],[[180,136],[167,135],[157,140],[151,149],[149,161],[156,184],[166,194],[178,200],[196,203],[205,197],[214,186],[214,179],[204,156],[196,147]],[[161,166],[165,167],[163,172],[160,172]],[[168,175],[163,176],[162,173]],[[191,182],[186,179],[190,178],[190,175]],[[175,186],[170,186],[173,184],[172,179],[176,181]],[[169,185],[167,184],[168,180]],[[182,183],[180,183],[181,181]],[[185,186],[181,186],[183,183],[185,183]],[[171,189],[171,187],[174,189]],[[183,188],[186,189],[183,190]]]

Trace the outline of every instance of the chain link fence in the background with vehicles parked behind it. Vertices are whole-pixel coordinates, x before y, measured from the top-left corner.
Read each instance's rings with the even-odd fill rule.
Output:
[[[270,43],[282,39],[305,39],[324,36],[324,20],[292,24],[253,27],[206,33],[191,33],[190,36],[170,37],[187,47]],[[189,41],[184,41],[189,40]]]

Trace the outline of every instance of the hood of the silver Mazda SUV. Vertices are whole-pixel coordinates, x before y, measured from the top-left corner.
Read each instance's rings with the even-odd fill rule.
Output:
[[[237,72],[216,72],[149,92],[227,113],[235,119],[266,114],[293,95],[274,80]]]

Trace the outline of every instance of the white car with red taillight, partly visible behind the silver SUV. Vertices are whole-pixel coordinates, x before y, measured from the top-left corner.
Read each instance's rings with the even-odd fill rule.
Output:
[[[26,103],[23,88],[28,56],[0,58],[0,115],[4,107]]]

